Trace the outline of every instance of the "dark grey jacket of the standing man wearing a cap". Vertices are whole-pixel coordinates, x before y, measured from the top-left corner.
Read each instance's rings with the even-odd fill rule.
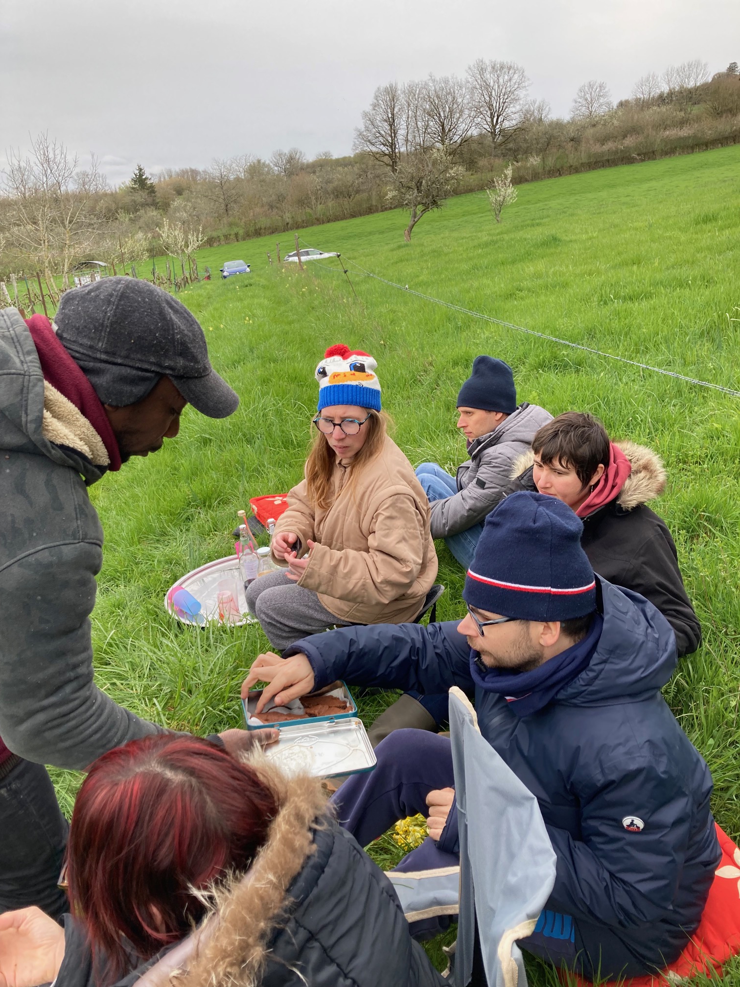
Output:
[[[43,434],[37,350],[0,311],[0,737],[39,764],[84,769],[158,732],[93,680],[90,613],[103,528],[86,487],[106,472]],[[47,413],[48,417],[48,413]]]

